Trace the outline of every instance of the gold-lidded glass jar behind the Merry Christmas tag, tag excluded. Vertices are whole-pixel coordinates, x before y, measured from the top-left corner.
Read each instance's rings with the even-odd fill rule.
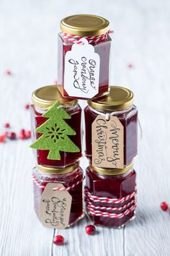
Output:
[[[84,109],[86,132],[86,157],[92,161],[91,127],[98,115],[117,116],[123,126],[124,165],[137,155],[138,109],[133,105],[133,93],[122,87],[110,87],[109,94],[93,101]],[[103,167],[103,166],[99,166]]]

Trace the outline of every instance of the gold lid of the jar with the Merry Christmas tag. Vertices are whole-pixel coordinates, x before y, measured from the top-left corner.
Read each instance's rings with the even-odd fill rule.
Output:
[[[88,104],[96,109],[122,110],[133,105],[133,92],[120,86],[111,86],[107,95],[88,101]]]

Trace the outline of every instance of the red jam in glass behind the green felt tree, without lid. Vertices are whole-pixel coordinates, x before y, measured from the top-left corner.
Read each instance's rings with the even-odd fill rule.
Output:
[[[40,127],[47,118],[42,116],[42,113],[35,109],[34,105],[31,105],[31,121],[32,121],[32,140],[37,140],[41,134],[35,133],[35,129]],[[81,107],[79,105],[74,107],[66,108],[66,111],[71,115],[71,119],[65,119],[66,123],[71,126],[76,132],[76,135],[70,136],[70,139],[79,147],[80,152],[77,153],[61,153],[61,160],[50,160],[48,159],[49,150],[34,150],[37,163],[42,166],[55,166],[55,167],[66,167],[69,166],[81,158]]]

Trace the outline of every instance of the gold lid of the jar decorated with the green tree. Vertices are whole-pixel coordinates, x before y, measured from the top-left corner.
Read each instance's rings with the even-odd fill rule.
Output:
[[[71,98],[63,98],[58,89],[60,85],[48,85],[38,88],[32,93],[32,103],[39,108],[50,108],[55,101],[58,101],[63,106],[75,106],[78,102]]]

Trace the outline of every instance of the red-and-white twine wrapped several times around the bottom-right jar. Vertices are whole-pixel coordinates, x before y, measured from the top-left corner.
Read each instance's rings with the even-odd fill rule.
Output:
[[[92,216],[122,218],[127,216],[133,210],[135,210],[136,194],[137,194],[137,190],[135,189],[135,191],[130,195],[127,195],[126,197],[121,197],[118,199],[115,199],[115,198],[113,199],[109,197],[97,197],[97,196],[91,195],[91,193],[89,192],[89,189],[85,187],[86,210]],[[121,207],[107,207],[107,206],[94,205],[94,202],[122,203],[122,202],[127,202],[128,200],[130,200],[130,202],[126,203]],[[103,210],[124,210],[124,211],[122,213],[109,213],[109,212],[104,212]]]

